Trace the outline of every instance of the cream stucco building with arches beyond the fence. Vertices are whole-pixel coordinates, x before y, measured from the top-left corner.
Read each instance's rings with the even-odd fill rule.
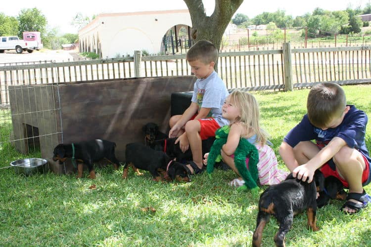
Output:
[[[167,54],[173,40],[190,46],[190,27],[188,9],[99,14],[79,30],[79,49],[101,58],[133,56],[134,50]]]

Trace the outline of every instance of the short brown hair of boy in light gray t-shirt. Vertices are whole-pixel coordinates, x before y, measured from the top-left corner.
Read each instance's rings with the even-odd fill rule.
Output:
[[[186,54],[187,61],[200,60],[204,64],[216,62],[219,56],[218,49],[215,45],[206,40],[197,41],[193,44]]]

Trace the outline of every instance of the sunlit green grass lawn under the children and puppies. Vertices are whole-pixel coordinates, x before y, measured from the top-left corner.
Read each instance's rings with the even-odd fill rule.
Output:
[[[344,89],[348,102],[371,116],[371,85]],[[305,114],[308,90],[253,94],[277,153],[283,136]],[[371,124],[369,149],[370,128]],[[20,156],[11,145],[7,148],[0,150],[1,167]],[[279,156],[278,161],[284,168]],[[53,173],[23,177],[11,168],[0,169],[1,246],[251,245],[259,199],[228,186],[236,177],[232,171],[216,170],[212,180],[206,174],[193,176],[190,183],[157,183],[148,172],[138,176],[132,170],[122,180],[121,172],[122,167],[114,171],[106,166],[96,168],[95,180],[78,180]],[[93,184],[96,189],[90,189]],[[371,185],[365,189],[371,193]],[[331,201],[318,210],[318,232],[307,229],[306,214],[297,215],[286,235],[287,246],[370,246],[371,207],[346,215],[341,205]],[[263,246],[274,245],[277,230],[272,219],[264,230]]]

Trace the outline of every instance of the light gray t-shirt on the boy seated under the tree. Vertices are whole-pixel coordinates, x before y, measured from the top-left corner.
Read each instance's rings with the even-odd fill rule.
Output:
[[[229,95],[226,85],[215,71],[206,79],[197,79],[193,85],[192,102],[197,103],[198,112],[201,107],[211,108],[207,117],[214,118],[222,127],[229,121],[222,117],[222,105]]]

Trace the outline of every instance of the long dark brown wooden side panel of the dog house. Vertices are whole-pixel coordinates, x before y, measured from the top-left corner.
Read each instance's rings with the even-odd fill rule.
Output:
[[[171,93],[191,90],[194,81],[186,76],[61,84],[64,143],[107,139],[116,142],[116,156],[124,161],[127,143],[144,142],[144,124],[168,131]]]

